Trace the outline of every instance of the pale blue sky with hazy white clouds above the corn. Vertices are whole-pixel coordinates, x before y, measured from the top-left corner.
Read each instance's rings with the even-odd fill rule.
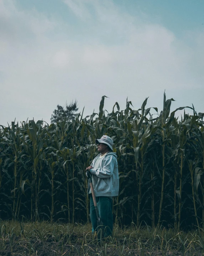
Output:
[[[0,125],[103,95],[160,111],[164,90],[204,112],[204,0],[0,0]]]

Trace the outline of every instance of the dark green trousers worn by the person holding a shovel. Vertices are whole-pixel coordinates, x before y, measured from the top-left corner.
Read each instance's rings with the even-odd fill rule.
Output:
[[[96,197],[99,216],[104,225],[104,237],[112,235],[113,232],[113,200],[109,197]],[[93,204],[92,195],[90,197],[90,217],[92,223],[92,233],[97,230],[96,211]]]

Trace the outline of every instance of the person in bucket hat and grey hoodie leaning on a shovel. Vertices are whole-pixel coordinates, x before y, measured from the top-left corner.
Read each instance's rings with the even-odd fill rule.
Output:
[[[116,153],[113,153],[113,140],[107,135],[96,140],[98,156],[93,159],[92,165],[86,168],[92,174],[93,189],[96,196],[98,212],[105,227],[104,236],[112,235],[113,231],[113,197],[118,195],[119,175]],[[91,194],[90,184],[88,193]],[[90,197],[90,217],[92,232],[97,228],[97,218],[92,195]]]

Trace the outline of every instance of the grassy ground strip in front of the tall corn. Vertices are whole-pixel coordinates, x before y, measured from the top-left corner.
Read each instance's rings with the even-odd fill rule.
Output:
[[[100,241],[90,224],[1,221],[0,231],[0,256],[204,255],[204,232],[198,230],[115,225],[113,236]]]

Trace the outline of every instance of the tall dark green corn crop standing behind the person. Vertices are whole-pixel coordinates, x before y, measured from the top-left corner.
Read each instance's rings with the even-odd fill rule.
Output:
[[[97,153],[95,139],[113,139],[120,189],[113,199],[117,222],[204,228],[204,113],[175,117],[173,99],[163,111],[120,110],[56,124],[23,121],[0,128],[0,218],[87,223],[89,198],[85,169]]]

